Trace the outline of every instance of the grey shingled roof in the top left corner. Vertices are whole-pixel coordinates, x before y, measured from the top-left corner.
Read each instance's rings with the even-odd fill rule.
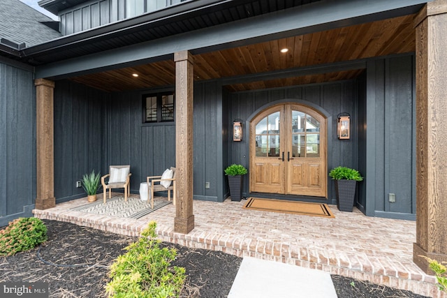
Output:
[[[62,36],[43,22],[54,20],[19,0],[0,1],[0,38],[29,47]]]

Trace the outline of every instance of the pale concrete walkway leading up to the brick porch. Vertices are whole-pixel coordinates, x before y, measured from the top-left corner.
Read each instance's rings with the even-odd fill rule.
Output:
[[[228,298],[337,298],[328,272],[244,257]]]

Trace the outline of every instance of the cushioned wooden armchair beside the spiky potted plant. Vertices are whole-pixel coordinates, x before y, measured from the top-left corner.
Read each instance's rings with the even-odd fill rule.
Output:
[[[104,190],[104,203],[105,192],[109,190],[109,199],[112,197],[112,188],[124,188],[124,201],[127,202],[127,197],[131,193],[130,179],[131,179],[131,166],[130,165],[110,165],[109,174],[101,177],[101,184]],[[109,177],[105,182],[105,178]]]

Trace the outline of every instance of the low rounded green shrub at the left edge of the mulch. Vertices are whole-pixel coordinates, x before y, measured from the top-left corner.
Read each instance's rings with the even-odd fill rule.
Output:
[[[0,230],[0,255],[28,251],[47,239],[47,227],[39,218],[17,218]]]

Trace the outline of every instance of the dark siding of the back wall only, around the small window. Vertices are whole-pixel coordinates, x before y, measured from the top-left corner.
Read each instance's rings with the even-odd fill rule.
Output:
[[[147,176],[175,167],[175,122],[142,123],[142,94],[171,89],[112,94],[108,125],[108,161],[131,165],[131,191]],[[222,101],[217,82],[194,85],[193,192],[195,200],[223,201]],[[205,188],[205,182],[210,188]]]

